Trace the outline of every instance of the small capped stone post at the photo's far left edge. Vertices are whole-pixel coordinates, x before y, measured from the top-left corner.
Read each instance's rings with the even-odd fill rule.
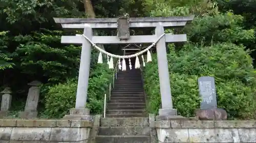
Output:
[[[12,95],[10,95],[11,88],[7,87],[4,91],[1,92],[2,95],[2,103],[1,103],[1,110],[0,115],[5,116],[9,109],[11,108],[11,102],[12,102]]]

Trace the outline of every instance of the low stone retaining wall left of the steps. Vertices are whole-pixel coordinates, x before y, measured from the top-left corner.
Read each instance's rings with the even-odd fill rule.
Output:
[[[93,123],[69,120],[0,120],[0,142],[87,143]]]

